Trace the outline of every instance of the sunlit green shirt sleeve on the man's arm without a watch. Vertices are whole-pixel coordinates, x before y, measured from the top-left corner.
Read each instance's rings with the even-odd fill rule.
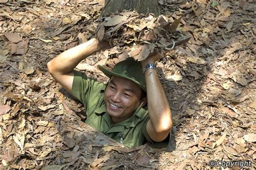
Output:
[[[74,71],[72,95],[84,104],[85,109],[90,109],[97,104],[105,90],[105,84],[97,82],[86,76],[85,73]]]

